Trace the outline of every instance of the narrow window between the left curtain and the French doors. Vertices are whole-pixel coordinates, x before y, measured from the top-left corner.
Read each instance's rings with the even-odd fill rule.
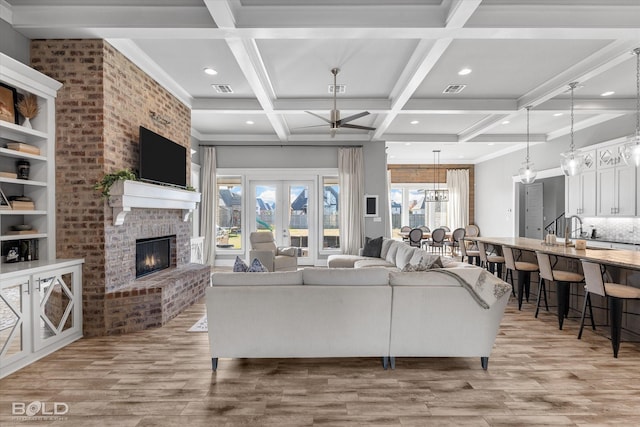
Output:
[[[218,250],[242,249],[242,177],[218,176]]]

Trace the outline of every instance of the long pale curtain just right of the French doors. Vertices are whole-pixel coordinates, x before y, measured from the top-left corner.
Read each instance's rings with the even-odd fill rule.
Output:
[[[338,150],[340,247],[357,255],[364,244],[364,160],[362,147]]]

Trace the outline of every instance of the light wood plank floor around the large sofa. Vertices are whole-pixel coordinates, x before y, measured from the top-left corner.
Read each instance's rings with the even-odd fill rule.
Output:
[[[0,380],[4,426],[640,425],[640,344],[512,301],[483,371],[473,358],[241,359],[210,367],[205,308],[167,326],[80,340]],[[460,325],[464,328],[464,325]],[[64,402],[56,422],[12,419],[12,402]]]

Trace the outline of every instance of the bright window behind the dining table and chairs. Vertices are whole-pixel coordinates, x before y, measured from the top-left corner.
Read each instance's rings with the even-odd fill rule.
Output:
[[[426,225],[431,230],[448,225],[448,203],[425,202],[425,189],[433,188],[433,184],[393,184],[391,186],[391,224],[392,236],[400,238],[400,227],[411,228]],[[437,188],[445,189],[446,184],[438,184]]]

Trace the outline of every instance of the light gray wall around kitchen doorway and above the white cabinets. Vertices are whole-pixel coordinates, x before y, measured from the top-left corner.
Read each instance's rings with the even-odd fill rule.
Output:
[[[598,126],[576,131],[574,143],[577,148],[587,147],[635,132],[635,116],[627,115]],[[569,135],[530,148],[531,160],[538,172],[560,167],[560,153],[569,150]],[[476,176],[476,223],[483,236],[514,236],[513,227],[514,191],[513,176],[524,161],[524,149],[486,162],[475,167]],[[517,223],[517,221],[515,221]]]

